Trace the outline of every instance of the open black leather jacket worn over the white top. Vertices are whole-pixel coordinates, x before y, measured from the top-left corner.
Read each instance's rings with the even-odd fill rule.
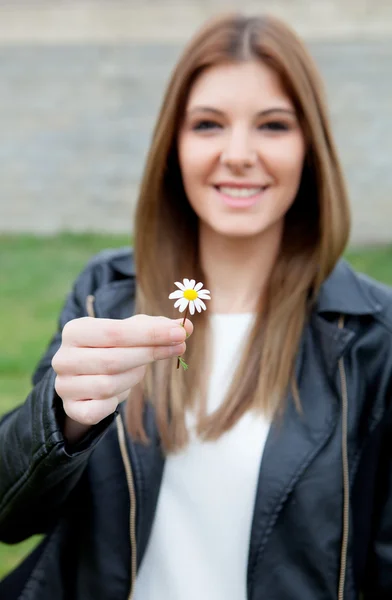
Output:
[[[1,595],[0,586],[2,599],[131,597],[164,466],[152,409],[148,446],[122,438],[120,408],[71,451],[51,359],[64,324],[86,315],[87,296],[94,295],[97,317],[125,318],[134,288],[129,250],[93,259],[66,301],[31,394],[0,423],[0,540],[46,534],[7,582],[18,591]],[[289,398],[260,468],[248,600],[336,600],[340,575],[340,598],[358,600],[362,591],[366,600],[390,600],[392,291],[340,262],[304,330],[297,375],[303,413]]]

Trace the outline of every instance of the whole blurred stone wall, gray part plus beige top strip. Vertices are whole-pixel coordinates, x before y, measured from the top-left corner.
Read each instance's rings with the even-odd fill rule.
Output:
[[[262,9],[218,0],[147,0],[143,8],[0,0],[0,231],[131,229],[170,70],[197,26],[230,4]],[[391,242],[392,3],[268,7],[307,39],[326,81],[352,242]]]

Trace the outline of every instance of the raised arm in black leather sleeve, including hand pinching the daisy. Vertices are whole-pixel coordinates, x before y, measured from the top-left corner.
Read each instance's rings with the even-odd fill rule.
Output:
[[[94,271],[88,268],[68,297],[33,391],[0,422],[0,540],[8,543],[47,531],[71,501],[83,502],[78,483],[123,395],[147,364],[180,356],[192,332],[181,319],[85,318]]]

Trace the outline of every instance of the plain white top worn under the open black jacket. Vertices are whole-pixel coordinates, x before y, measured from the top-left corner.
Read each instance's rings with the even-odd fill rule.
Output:
[[[228,390],[254,317],[210,319],[212,412]],[[135,600],[246,600],[253,507],[269,426],[247,412],[217,441],[192,434],[184,450],[168,456]]]

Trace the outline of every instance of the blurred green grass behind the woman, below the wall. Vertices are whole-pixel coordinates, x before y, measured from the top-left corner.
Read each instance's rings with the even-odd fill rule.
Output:
[[[23,402],[30,377],[56,328],[72,281],[103,248],[127,245],[126,236],[0,236],[0,415]],[[392,285],[392,246],[351,251],[360,271]],[[0,544],[0,578],[36,543]]]

